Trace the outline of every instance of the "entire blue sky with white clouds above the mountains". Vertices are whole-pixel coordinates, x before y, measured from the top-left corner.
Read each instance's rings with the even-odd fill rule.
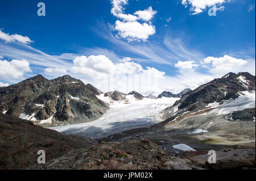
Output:
[[[0,2],[0,86],[69,74],[157,95],[255,75],[255,1],[45,0],[38,16],[39,2]]]

